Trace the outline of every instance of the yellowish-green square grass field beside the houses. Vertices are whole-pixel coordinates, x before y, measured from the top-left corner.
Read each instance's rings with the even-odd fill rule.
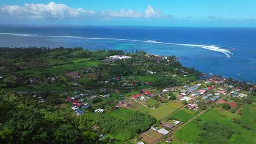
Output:
[[[149,114],[151,114],[156,119],[160,120],[164,117],[173,113],[176,109],[167,106],[166,104],[161,104],[158,108],[152,109]]]

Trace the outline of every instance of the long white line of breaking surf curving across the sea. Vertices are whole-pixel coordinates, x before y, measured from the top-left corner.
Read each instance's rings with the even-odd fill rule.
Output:
[[[0,33],[0,35],[37,36],[37,35],[14,34],[14,33]],[[229,50],[222,49],[221,47],[218,47],[218,46],[215,46],[215,45],[178,44],[178,43],[158,42],[158,41],[155,41],[155,40],[133,40],[133,39],[123,39],[123,38],[99,38],[99,37],[79,37],[79,36],[45,36],[45,37],[67,37],[67,38],[83,38],[83,39],[133,41],[133,42],[155,43],[155,44],[165,44],[165,45],[183,45],[183,46],[191,46],[191,47],[201,47],[203,49],[208,49],[210,51],[219,52],[219,53],[225,54],[228,58],[230,57],[231,54],[233,54]]]

